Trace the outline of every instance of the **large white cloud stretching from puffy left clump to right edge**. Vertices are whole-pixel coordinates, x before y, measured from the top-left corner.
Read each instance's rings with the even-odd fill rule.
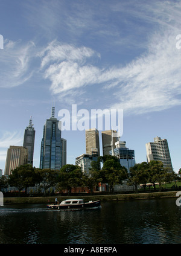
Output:
[[[103,89],[101,96],[114,95],[111,108],[137,114],[177,106],[181,51],[176,48],[175,33],[155,33],[139,58],[122,68],[115,65],[109,69],[93,65],[95,59],[91,62],[90,58],[100,57],[94,50],[54,41],[41,55],[44,77],[51,81],[53,94],[66,95],[78,88],[99,85]]]

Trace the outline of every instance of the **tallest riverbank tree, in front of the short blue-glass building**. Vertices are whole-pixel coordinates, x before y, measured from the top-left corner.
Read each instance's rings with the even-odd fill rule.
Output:
[[[117,158],[108,159],[104,162],[103,168],[100,170],[100,178],[103,183],[108,183],[110,191],[114,191],[114,186],[122,184],[127,178],[127,169],[119,164]]]

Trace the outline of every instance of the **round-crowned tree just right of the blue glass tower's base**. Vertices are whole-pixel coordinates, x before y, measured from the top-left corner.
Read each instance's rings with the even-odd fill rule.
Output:
[[[78,165],[66,164],[60,169],[58,187],[67,189],[71,194],[72,187],[83,185],[83,173]]]

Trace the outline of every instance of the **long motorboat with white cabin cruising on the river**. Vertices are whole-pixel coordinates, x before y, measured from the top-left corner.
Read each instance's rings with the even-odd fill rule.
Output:
[[[66,199],[60,204],[46,205],[48,210],[84,210],[90,208],[97,208],[101,205],[101,200],[89,201],[84,203],[83,199]]]

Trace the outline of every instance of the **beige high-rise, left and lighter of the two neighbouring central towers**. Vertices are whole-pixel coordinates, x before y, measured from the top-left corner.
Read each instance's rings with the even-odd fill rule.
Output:
[[[86,153],[92,155],[92,149],[97,149],[98,156],[100,156],[100,140],[97,129],[86,130]]]

